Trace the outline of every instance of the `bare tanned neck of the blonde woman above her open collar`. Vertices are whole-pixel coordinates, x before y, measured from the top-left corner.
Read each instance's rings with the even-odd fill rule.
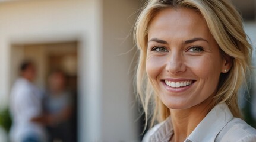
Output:
[[[213,108],[209,97],[188,109],[170,109],[174,134],[172,141],[184,141]]]

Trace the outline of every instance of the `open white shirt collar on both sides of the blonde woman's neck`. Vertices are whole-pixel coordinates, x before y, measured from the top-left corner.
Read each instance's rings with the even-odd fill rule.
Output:
[[[214,141],[233,115],[225,102],[217,104],[188,136],[185,142]],[[168,117],[160,124],[150,141],[169,141],[173,134],[173,126]]]

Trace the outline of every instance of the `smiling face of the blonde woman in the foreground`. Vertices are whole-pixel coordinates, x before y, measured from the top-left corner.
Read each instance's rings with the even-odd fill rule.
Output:
[[[169,8],[151,21],[146,71],[168,108],[191,108],[214,95],[226,66],[206,22],[197,12]]]

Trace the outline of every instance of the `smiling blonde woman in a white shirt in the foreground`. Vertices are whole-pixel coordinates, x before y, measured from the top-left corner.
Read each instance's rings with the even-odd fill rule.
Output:
[[[256,141],[237,102],[252,47],[229,1],[148,1],[135,40],[137,92],[159,122],[144,141]]]

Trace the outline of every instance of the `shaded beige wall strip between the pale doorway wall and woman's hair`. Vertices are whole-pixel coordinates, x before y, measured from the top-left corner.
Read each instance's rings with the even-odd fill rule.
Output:
[[[103,1],[103,141],[137,141],[138,138],[132,86],[135,69],[132,58],[137,47],[133,44],[132,25],[138,14],[135,12],[142,4],[137,0]]]

